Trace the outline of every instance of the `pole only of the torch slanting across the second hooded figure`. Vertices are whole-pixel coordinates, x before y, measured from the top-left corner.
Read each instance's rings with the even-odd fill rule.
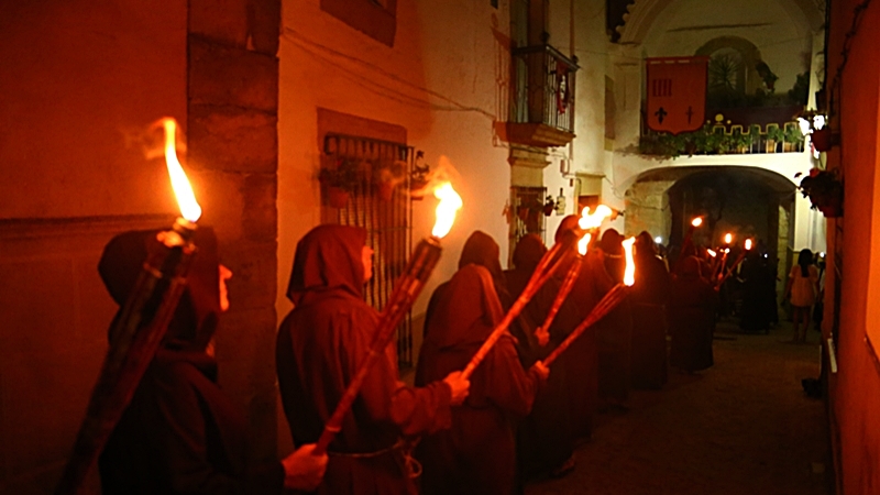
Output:
[[[315,448],[315,455],[321,455],[327,452],[327,448],[337,433],[342,430],[342,420],[345,418],[349,409],[351,409],[358,393],[366,378],[367,373],[381,356],[385,355],[385,349],[388,346],[395,330],[400,324],[406,312],[413,306],[416,298],[425,288],[428,277],[431,276],[437,262],[440,260],[440,240],[437,238],[424,239],[416,246],[413,257],[406,271],[402,275],[397,287],[392,293],[385,309],[373,334],[373,342],[370,345],[370,351],[364,359],[361,367],[355,373],[352,381],[349,383],[345,393],[342,395],[339,405],[337,405],[333,415],[327,420],[323,427],[321,437],[318,439],[318,444]]]

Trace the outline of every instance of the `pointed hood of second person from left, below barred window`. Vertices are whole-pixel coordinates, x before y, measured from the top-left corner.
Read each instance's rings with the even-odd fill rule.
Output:
[[[349,226],[318,226],[299,240],[287,298],[299,305],[308,294],[343,290],[363,298],[366,230]]]

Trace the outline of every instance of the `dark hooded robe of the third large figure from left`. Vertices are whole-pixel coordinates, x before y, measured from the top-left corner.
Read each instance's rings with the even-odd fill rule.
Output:
[[[463,370],[503,317],[492,275],[468,264],[431,296],[416,384]],[[514,421],[531,409],[539,378],[526,373],[505,333],[471,376],[452,428],[425,437],[417,455],[426,494],[509,495],[516,484]]]

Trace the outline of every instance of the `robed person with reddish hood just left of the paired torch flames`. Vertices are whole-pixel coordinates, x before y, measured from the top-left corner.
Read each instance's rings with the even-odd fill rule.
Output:
[[[578,262],[578,242],[584,232],[578,221],[580,217],[570,215],[562,219],[557,229],[554,241],[564,244],[572,254],[570,262],[556,273],[556,286],[562,285],[571,263]],[[581,266],[581,272],[571,294],[562,304],[553,326],[551,336],[560,341],[568,337],[614,286],[604,268],[601,250],[591,249]],[[557,289],[558,290],[558,289]],[[554,293],[556,294],[556,293]],[[593,418],[598,409],[598,344],[597,327],[585,331],[559,359],[559,365],[565,369],[568,387],[569,415],[571,432],[574,438],[588,438],[593,432]]]

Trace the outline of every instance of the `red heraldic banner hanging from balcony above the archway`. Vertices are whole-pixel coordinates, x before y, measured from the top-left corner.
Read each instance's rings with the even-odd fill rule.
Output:
[[[648,128],[654,131],[696,131],[706,120],[708,57],[647,58]]]

